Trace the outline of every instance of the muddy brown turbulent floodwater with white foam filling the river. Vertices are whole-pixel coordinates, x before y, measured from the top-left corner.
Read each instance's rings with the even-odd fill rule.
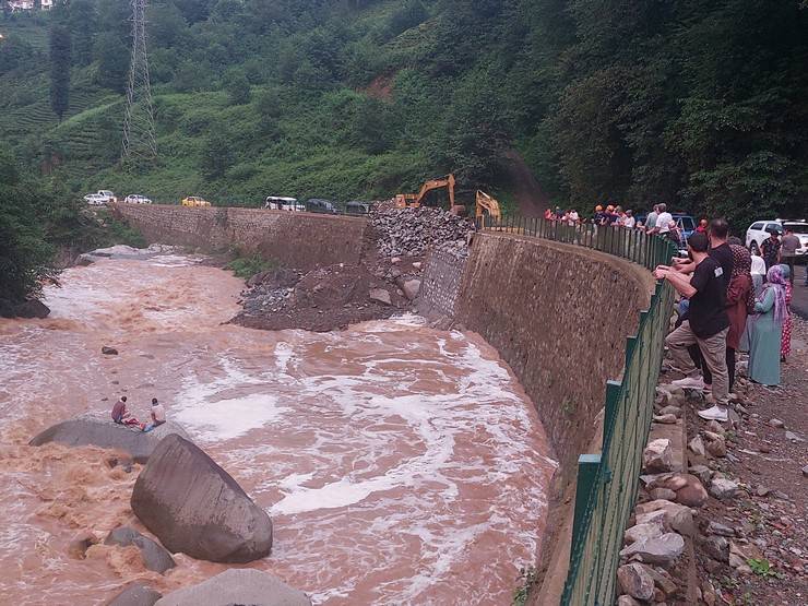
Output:
[[[0,320],[0,603],[103,604],[134,579],[165,593],[226,568],[179,555],[161,577],[131,547],[69,555],[81,532],[145,532],[129,509],[139,466],[26,443],[127,394],[141,417],[158,397],[266,509],[273,551],[250,566],[314,604],[510,604],[555,463],[496,350],[416,317],[222,324],[240,287],[183,257],[104,260],[47,289],[49,319]]]

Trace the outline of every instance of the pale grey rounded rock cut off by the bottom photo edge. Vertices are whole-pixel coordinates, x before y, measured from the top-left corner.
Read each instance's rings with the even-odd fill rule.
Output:
[[[199,585],[169,593],[156,606],[311,606],[301,591],[250,568],[230,569]]]

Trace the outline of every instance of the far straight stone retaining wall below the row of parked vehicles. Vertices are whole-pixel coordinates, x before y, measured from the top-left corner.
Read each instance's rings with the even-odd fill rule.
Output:
[[[115,212],[148,243],[181,245],[212,252],[240,248],[309,270],[357,263],[367,221],[359,217],[263,209],[193,209],[162,204],[117,204]]]

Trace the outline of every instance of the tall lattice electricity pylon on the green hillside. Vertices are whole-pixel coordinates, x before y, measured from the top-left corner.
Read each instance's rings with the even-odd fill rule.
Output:
[[[132,0],[132,58],[127,83],[121,164],[139,165],[156,157],[154,104],[146,54],[146,0]]]

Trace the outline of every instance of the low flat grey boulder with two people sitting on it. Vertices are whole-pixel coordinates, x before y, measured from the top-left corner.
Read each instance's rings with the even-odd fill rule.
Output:
[[[82,415],[49,427],[31,440],[31,445],[58,442],[69,447],[117,449],[128,452],[138,463],[145,463],[159,441],[171,433],[188,438],[182,426],[171,420],[143,432],[136,427],[112,423],[108,416]]]

